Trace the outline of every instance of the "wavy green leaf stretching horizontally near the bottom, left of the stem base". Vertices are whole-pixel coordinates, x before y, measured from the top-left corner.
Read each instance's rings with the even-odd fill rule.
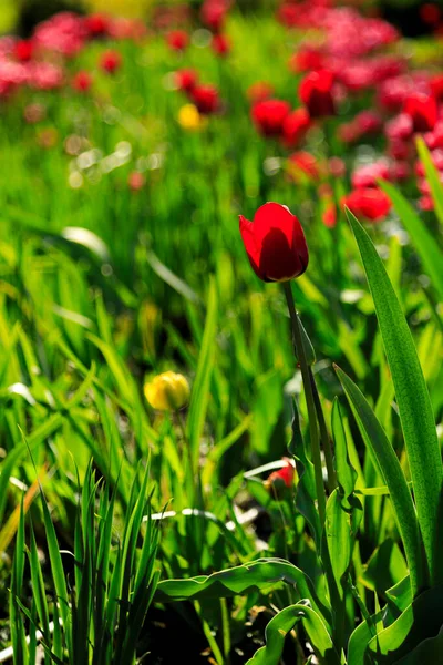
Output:
[[[282,559],[259,559],[233,569],[187,580],[165,580],[158,583],[155,600],[171,601],[224,598],[248,594],[278,582],[296,586],[302,598],[309,598],[313,610],[329,623],[330,612],[317,597],[312,582],[300,569]]]

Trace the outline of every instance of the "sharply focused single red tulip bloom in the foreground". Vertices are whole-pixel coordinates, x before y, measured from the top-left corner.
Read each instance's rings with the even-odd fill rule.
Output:
[[[266,203],[254,222],[240,215],[240,233],[253,270],[264,282],[287,282],[308,267],[303,229],[285,205]]]

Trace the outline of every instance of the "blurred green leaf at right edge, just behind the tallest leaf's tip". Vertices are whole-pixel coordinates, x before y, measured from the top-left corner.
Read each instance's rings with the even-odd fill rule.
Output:
[[[387,182],[381,182],[380,187],[384,190],[393,206],[403,222],[405,229],[408,231],[411,241],[415,247],[416,253],[423,264],[424,270],[431,278],[439,297],[443,300],[443,253],[439,245],[427,231],[424,222],[419,217],[414,208],[404,198],[400,192],[395,190],[393,185]]]

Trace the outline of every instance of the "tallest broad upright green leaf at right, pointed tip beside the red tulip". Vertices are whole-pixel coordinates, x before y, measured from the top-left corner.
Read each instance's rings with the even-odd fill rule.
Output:
[[[370,237],[348,211],[375,305],[402,423],[431,581],[443,579],[443,530],[439,512],[442,457],[432,405],[411,331]],[[388,484],[388,483],[387,483]]]

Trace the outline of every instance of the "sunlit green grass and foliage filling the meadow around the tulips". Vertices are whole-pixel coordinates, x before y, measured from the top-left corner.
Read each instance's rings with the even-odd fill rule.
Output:
[[[270,81],[299,105],[287,62],[305,33],[235,9],[227,32],[225,59],[200,27],[183,54],[158,33],[91,41],[62,88],[1,101],[0,662],[443,658],[439,172],[421,144],[434,209],[411,177],[385,185],[393,208],[360,219],[367,234],[343,207],[328,227],[352,168],[385,150],[338,132],[372,92],[310,130],[319,173],[295,174],[247,91]],[[436,71],[437,49],[391,52]],[[184,66],[222,100],[195,129]],[[303,372],[284,288],[254,274],[238,229],[267,201],[309,247],[291,283],[316,354],[297,347]],[[145,398],[166,371],[190,386],[182,409]],[[290,487],[267,481],[292,456]]]

